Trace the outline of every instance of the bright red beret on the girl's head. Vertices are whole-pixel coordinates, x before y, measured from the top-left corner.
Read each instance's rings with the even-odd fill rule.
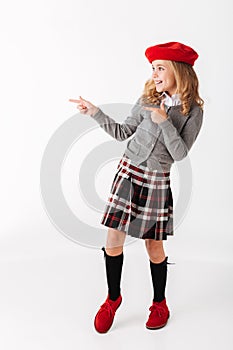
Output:
[[[190,46],[175,41],[150,46],[146,49],[145,55],[150,63],[154,60],[171,60],[189,63],[192,66],[198,58],[198,54]]]

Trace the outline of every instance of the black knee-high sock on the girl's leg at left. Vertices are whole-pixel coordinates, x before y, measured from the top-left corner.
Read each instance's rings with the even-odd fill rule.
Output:
[[[108,293],[111,300],[116,300],[121,292],[121,272],[123,265],[123,252],[117,256],[110,256],[106,253],[104,247],[102,247],[105,257],[106,275],[108,283]]]

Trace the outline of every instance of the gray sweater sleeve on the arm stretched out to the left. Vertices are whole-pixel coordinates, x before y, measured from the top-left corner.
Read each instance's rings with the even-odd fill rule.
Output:
[[[137,126],[142,122],[142,106],[140,98],[131,108],[130,115],[122,122],[117,123],[113,118],[106,115],[100,108],[91,116],[100,125],[105,132],[115,138],[117,141],[124,141],[135,133]]]

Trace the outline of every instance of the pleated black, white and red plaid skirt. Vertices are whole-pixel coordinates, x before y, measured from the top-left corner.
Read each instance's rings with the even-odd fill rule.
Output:
[[[141,239],[173,235],[170,173],[150,170],[143,163],[136,166],[123,154],[101,224]]]

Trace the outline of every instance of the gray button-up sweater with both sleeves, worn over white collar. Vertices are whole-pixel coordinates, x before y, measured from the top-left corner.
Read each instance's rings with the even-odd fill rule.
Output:
[[[169,172],[172,163],[185,158],[196,140],[203,122],[203,110],[194,104],[189,114],[183,116],[180,105],[165,105],[168,118],[157,124],[151,119],[151,111],[144,110],[139,100],[123,123],[117,123],[100,108],[92,118],[118,141],[134,134],[127,142],[125,154],[135,165],[143,163],[150,170]]]

